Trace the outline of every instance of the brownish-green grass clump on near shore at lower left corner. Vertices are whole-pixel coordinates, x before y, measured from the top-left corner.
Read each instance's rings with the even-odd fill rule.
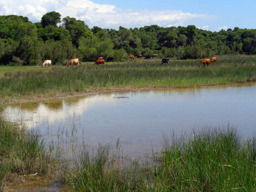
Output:
[[[25,131],[0,119],[0,191],[7,181],[20,181],[19,176],[26,180],[25,175],[55,174],[53,146],[39,131]]]

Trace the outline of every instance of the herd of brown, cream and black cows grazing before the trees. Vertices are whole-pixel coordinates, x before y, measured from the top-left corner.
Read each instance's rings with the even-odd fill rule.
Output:
[[[241,52],[240,54],[245,54],[245,53],[244,53],[244,52]],[[221,54],[215,53],[215,55],[219,56],[219,55],[221,55]],[[135,56],[132,55],[132,54],[129,54],[128,57],[129,57],[130,59],[132,59],[132,60],[135,60]],[[136,58],[138,58],[138,59],[139,59],[139,58],[142,58],[142,57],[143,57],[142,54],[138,54],[138,55],[136,56]],[[151,59],[151,58],[158,58],[158,54],[153,54],[152,56],[145,56],[145,59]],[[217,60],[217,57],[212,57],[211,59],[203,59],[203,60],[200,60],[200,63],[202,63],[202,64],[204,65],[203,67],[205,67],[206,64],[207,64],[207,66],[210,66],[210,64],[211,64],[211,63],[215,63],[216,60]],[[106,61],[107,61],[107,62],[108,62],[108,61],[114,62],[114,57],[108,57],[108,59],[107,59]],[[169,64],[169,58],[162,59],[161,64],[163,65],[164,63]],[[95,61],[95,63],[94,63],[94,65],[99,65],[99,64],[103,64],[103,65],[105,64],[105,60],[103,59],[103,57],[99,57],[99,58]],[[67,63],[67,67],[68,67],[68,66],[74,66],[74,65],[79,65],[79,59],[78,59],[78,58],[73,58],[73,59],[69,60],[68,63]],[[42,67],[48,67],[48,66],[52,66],[52,61],[51,61],[51,60],[45,60],[44,63],[42,64]],[[38,66],[37,66],[37,67],[38,67]]]

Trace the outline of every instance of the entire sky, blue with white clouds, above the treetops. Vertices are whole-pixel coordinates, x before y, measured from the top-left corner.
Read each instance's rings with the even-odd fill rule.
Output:
[[[27,16],[33,23],[56,11],[93,28],[127,29],[195,25],[196,28],[256,29],[256,0],[0,0],[0,15]]]

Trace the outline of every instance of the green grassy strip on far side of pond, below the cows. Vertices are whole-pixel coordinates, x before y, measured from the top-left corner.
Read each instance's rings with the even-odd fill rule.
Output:
[[[195,87],[256,80],[256,57],[223,56],[211,67],[199,60],[127,61],[78,67],[0,67],[0,98],[8,102],[22,98],[51,97],[56,94],[141,87]]]

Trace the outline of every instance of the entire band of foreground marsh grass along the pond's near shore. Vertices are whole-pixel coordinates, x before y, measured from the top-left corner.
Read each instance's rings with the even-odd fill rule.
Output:
[[[72,161],[60,161],[38,132],[0,123],[0,191],[13,175],[50,177],[57,170],[64,191],[255,191],[256,136],[244,138],[231,125],[163,136],[161,153],[143,160],[125,160],[119,138],[97,147],[84,143]]]

